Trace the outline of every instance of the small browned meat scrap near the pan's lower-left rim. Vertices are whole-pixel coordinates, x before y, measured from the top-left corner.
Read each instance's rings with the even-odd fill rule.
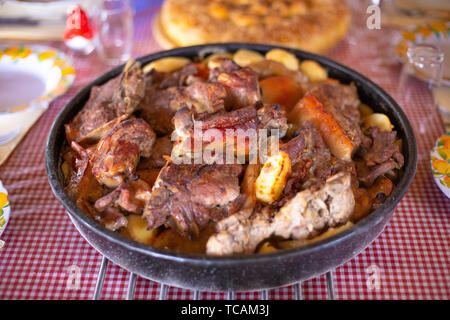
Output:
[[[119,187],[98,199],[95,209],[99,212],[108,207],[121,208],[126,212],[141,213],[150,199],[151,188],[141,179],[124,182]]]

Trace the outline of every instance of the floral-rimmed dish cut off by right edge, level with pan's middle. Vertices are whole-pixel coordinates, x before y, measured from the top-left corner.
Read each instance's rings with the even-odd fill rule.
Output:
[[[439,189],[450,198],[450,132],[440,137],[431,151],[431,172]]]

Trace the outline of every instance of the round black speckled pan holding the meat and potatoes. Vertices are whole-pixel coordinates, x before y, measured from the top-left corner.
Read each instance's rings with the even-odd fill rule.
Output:
[[[230,52],[246,48],[265,53],[276,47],[245,43],[208,44],[163,51],[138,60],[145,64],[167,56],[193,58],[209,48]],[[61,147],[65,143],[64,124],[84,106],[92,86],[101,85],[119,75],[123,69],[120,66],[91,82],[69,101],[56,118],[47,141],[45,160],[50,185],[82,236],[100,253],[128,271],[168,285],[207,291],[248,291],[288,285],[332,270],[366,248],[382,232],[414,177],[417,147],[411,125],[398,104],[366,77],[325,57],[295,49],[286,50],[300,60],[319,62],[332,78],[343,83],[354,82],[361,101],[391,119],[403,141],[405,165],[395,191],[380,208],[351,228],[309,245],[266,254],[230,257],[153,248],[107,230],[82,212],[64,191],[60,169]]]

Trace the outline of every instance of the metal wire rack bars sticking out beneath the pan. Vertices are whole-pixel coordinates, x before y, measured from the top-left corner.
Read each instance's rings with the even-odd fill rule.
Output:
[[[108,262],[109,260],[106,257],[103,257],[102,264],[100,266],[100,270],[98,272],[97,276],[97,283],[95,285],[95,291],[93,300],[99,300],[101,298],[102,289],[103,289],[103,283],[105,280],[106,270],[108,268]],[[136,278],[137,275],[135,273],[130,272],[130,277],[128,280],[128,289],[127,289],[127,300],[133,300],[134,299],[134,291],[136,288]],[[328,299],[334,300],[334,284],[333,284],[333,272],[329,271],[326,273],[326,282],[327,282],[327,293],[328,293]],[[161,284],[161,290],[159,293],[159,300],[167,300],[167,292],[168,292],[169,286],[162,283]],[[261,293],[261,300],[269,300],[269,291],[272,289],[265,289],[262,290]],[[200,290],[194,290],[194,300],[200,300],[201,297],[201,291]],[[236,292],[235,291],[228,291],[227,292],[227,299],[228,300],[235,300]],[[298,282],[294,285],[294,297],[295,300],[303,300],[303,283]]]

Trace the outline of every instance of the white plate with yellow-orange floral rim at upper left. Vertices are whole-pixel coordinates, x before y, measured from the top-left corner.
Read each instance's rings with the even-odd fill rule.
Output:
[[[54,48],[0,48],[0,116],[48,105],[66,92],[74,79],[71,59]]]

